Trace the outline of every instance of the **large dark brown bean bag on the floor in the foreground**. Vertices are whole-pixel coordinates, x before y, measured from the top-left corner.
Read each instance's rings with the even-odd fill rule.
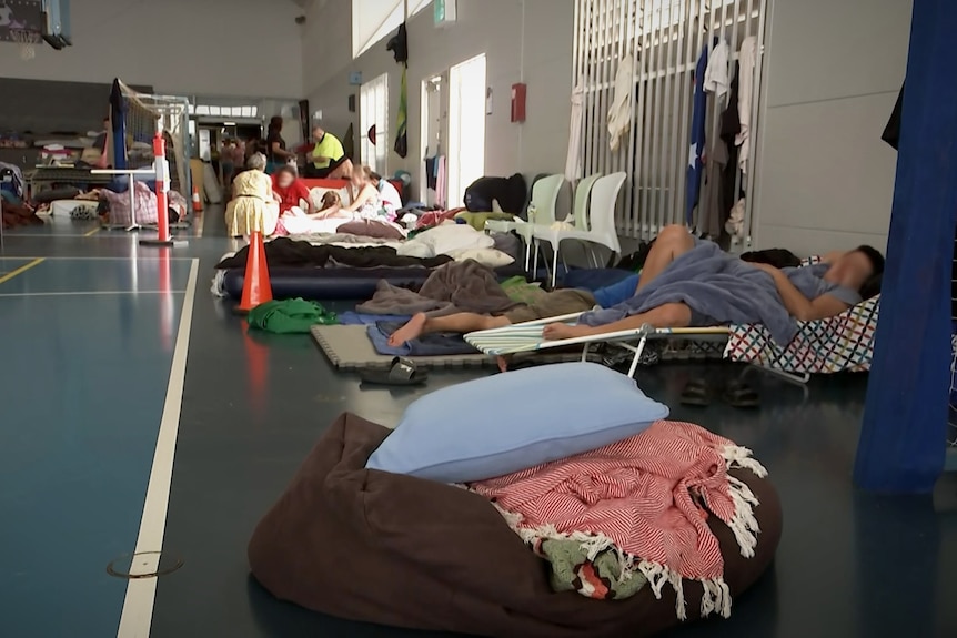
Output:
[[[276,598],[353,620],[516,638],[637,637],[679,622],[667,586],[661,600],[647,586],[615,601],[556,594],[545,564],[483,497],[364,469],[389,432],[340,416],[260,521],[250,566]],[[708,523],[736,597],[770,565],[782,515],[767,480],[732,474],[759,499],[762,529],[754,558],[743,558],[731,529]],[[686,580],[684,591],[695,619],[701,585]]]

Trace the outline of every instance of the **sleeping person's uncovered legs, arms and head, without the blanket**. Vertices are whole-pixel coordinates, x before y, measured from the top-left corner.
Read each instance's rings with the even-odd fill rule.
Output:
[[[425,333],[464,334],[563,314],[587,313],[596,305],[596,297],[606,297],[603,298],[603,305],[607,310],[582,315],[578,323],[574,325],[566,323],[548,324],[543,330],[543,337],[546,340],[565,340],[593,336],[638,330],[645,324],[656,328],[665,328],[734,323],[731,316],[711,317],[704,315],[684,301],[664,302],[655,305],[654,300],[652,300],[649,307],[642,305],[643,300],[648,301],[651,297],[649,293],[657,292],[653,284],[663,274],[668,273],[678,257],[705,243],[713,246],[714,250],[704,249],[702,251],[706,253],[707,257],[707,264],[702,264],[703,267],[713,269],[716,274],[719,272],[725,277],[751,280],[751,283],[756,286],[753,290],[767,293],[766,296],[773,297],[772,305],[783,305],[786,314],[799,321],[822,320],[843,313],[862,301],[862,288],[884,271],[884,256],[872,246],[859,246],[849,252],[828,255],[826,262],[813,266],[778,270],[767,264],[749,264],[742,262],[734,255],[721,252],[716,245],[709,242],[695,239],[685,226],[673,225],[665,227],[652,246],[636,288],[631,293],[626,291],[624,295],[618,293],[616,300],[606,301],[608,297],[607,294],[604,294],[606,291],[597,291],[593,295],[587,291],[570,288],[547,293],[542,301],[534,305],[520,306],[498,316],[459,313],[430,317],[420,313],[395,331],[389,343],[393,346],[400,346]],[[692,255],[689,254],[687,257],[691,259]],[[682,267],[687,270],[687,265],[686,259]],[[758,275],[757,271],[763,271],[770,277],[773,288],[767,285],[767,280]],[[669,274],[674,275],[674,273]],[[696,283],[703,283],[704,280],[708,279],[707,275],[708,273],[703,273]],[[663,280],[666,283],[674,283],[667,282],[668,276],[663,277]],[[724,281],[728,282],[727,279]],[[681,284],[682,282],[677,283]],[[627,298],[622,298],[625,295]],[[745,300],[741,305],[747,306],[748,303]],[[732,311],[735,310],[739,311],[741,308],[732,308]],[[734,314],[734,312],[729,314]],[[779,314],[784,315],[785,313]]]

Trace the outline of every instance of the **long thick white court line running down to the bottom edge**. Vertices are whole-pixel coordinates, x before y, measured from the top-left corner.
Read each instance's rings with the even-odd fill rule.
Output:
[[[177,452],[177,435],[180,429],[180,411],[183,402],[183,384],[187,378],[187,354],[190,350],[190,328],[193,323],[193,301],[197,294],[199,265],[200,260],[193,260],[192,266],[190,266],[190,280],[187,284],[183,312],[180,315],[180,326],[177,331],[177,344],[173,350],[170,383],[167,386],[167,399],[163,404],[163,417],[160,421],[160,432],[157,435],[157,449],[153,453],[153,466],[150,470],[147,499],[143,503],[143,517],[140,519],[140,535],[137,537],[137,554],[159,553],[163,549],[163,534],[167,528],[173,457]],[[159,554],[147,557],[147,560],[148,565],[137,560],[138,573],[154,571],[159,568]],[[123,600],[123,614],[120,616],[120,628],[117,631],[118,638],[149,638],[155,597],[155,578],[133,578],[127,583],[127,597]]]

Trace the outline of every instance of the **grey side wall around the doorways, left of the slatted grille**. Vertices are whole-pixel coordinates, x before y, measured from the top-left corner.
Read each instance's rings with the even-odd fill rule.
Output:
[[[334,134],[344,133],[350,123],[359,134],[359,115],[347,111],[349,95],[356,93],[357,101],[359,88],[349,85],[349,73],[361,71],[372,79],[387,72],[391,135],[401,70],[384,41],[352,60],[350,4],[318,0],[309,12],[303,87],[310,110],[321,109],[323,126]],[[409,156],[391,153],[389,172],[404,169],[419,175],[422,81],[481,53],[486,54],[494,99],[485,128],[486,174],[562,172],[571,117],[573,23],[573,0],[459,0],[457,23],[440,29],[431,8],[414,16],[409,23]],[[527,121],[513,124],[511,87],[523,79],[523,71]]]

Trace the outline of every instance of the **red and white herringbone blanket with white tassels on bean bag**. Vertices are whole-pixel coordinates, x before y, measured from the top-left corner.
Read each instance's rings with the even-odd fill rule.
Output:
[[[573,538],[590,555],[613,546],[621,578],[638,570],[658,597],[672,584],[678,617],[685,618],[682,578],[704,585],[703,616],[726,617],[724,559],[706,519],[711,514],[727,524],[745,557],[754,555],[759,531],[757,499],[728,476],[729,467],[767,474],[751,450],[726,438],[658,421],[637,436],[470,487],[493,499],[526,541]]]

